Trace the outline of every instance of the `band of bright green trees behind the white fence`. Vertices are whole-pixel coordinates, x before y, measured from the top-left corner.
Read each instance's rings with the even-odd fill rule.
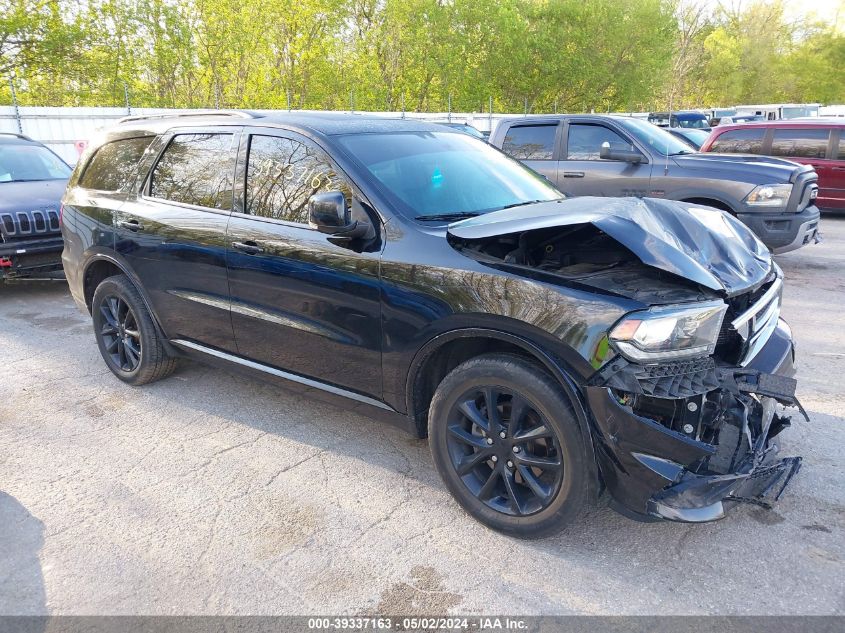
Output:
[[[0,0],[0,102],[533,112],[845,101],[778,0]]]

